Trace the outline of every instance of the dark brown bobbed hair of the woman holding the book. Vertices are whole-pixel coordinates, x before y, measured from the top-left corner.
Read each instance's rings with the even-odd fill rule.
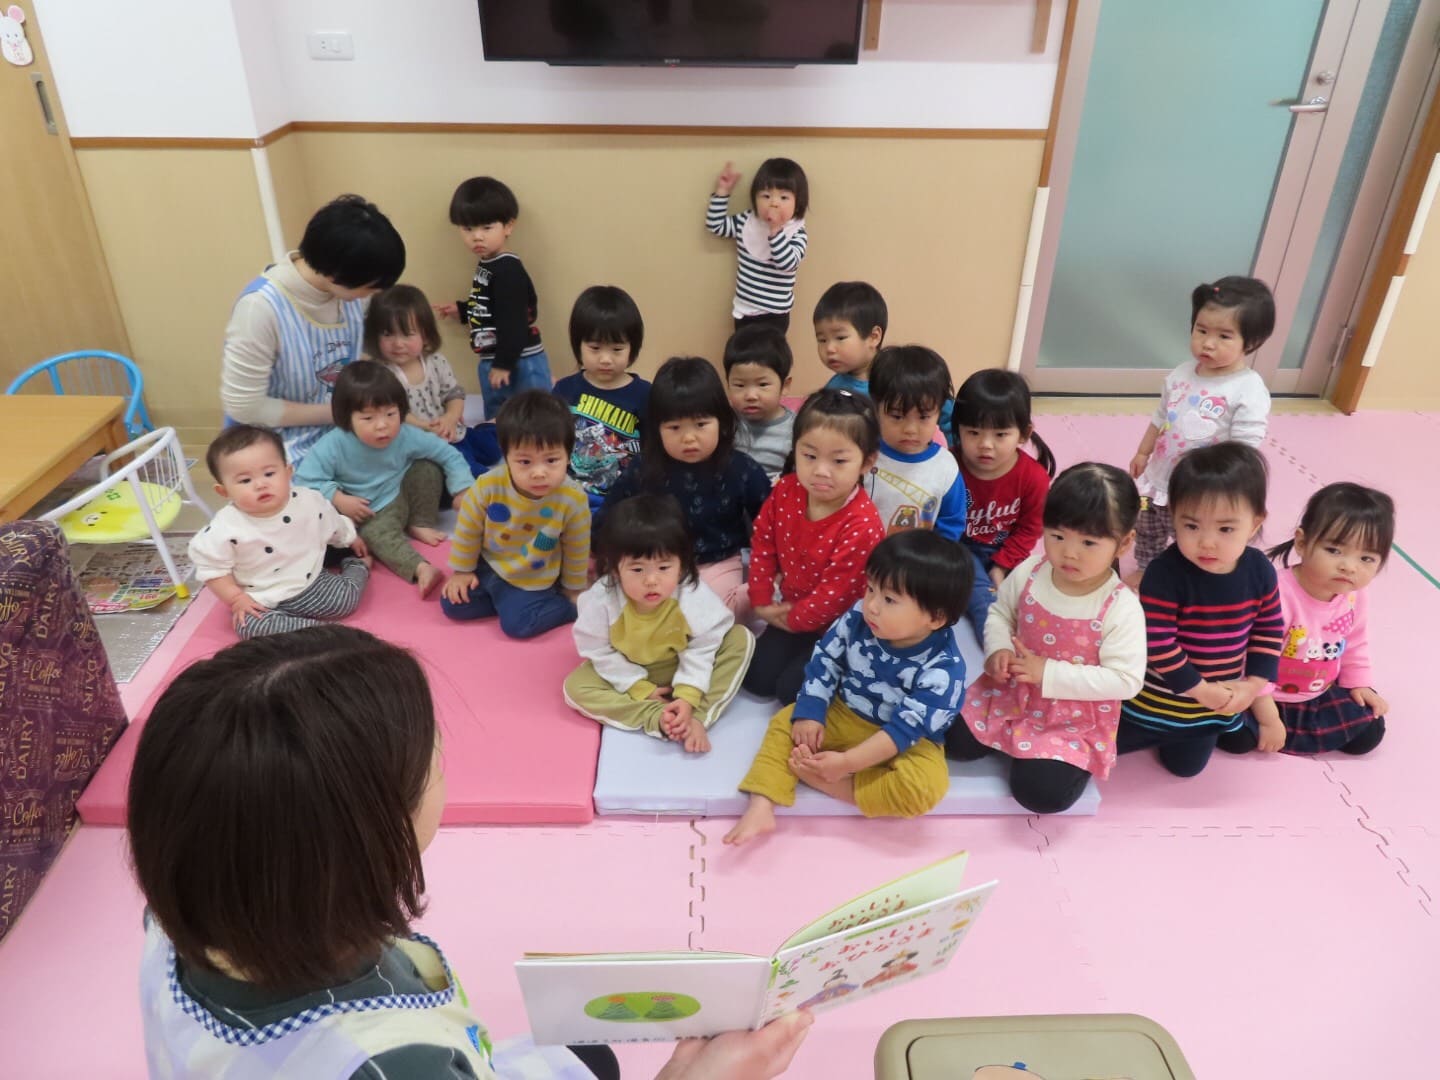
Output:
[[[423,910],[413,814],[435,707],[409,652],[360,629],[242,641],[181,671],[130,772],[131,865],[180,959],[268,991],[354,975]]]

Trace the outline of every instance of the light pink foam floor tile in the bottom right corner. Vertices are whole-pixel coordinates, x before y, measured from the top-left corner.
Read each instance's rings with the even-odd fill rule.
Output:
[[[1197,1076],[1427,1071],[1440,922],[1374,835],[1043,828],[1100,1008],[1158,1021]]]

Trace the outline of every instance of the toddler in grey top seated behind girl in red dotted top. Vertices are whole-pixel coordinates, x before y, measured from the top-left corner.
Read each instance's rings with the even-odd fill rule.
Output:
[[[724,379],[737,418],[734,445],[773,484],[795,442],[795,413],[780,400],[791,389],[795,359],[775,327],[740,327],[724,346]]]

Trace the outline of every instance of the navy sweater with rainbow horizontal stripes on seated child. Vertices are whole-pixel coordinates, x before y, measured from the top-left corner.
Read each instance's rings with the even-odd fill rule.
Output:
[[[1238,716],[1212,713],[1189,691],[1202,680],[1273,680],[1284,618],[1274,566],[1247,547],[1230,573],[1210,573],[1171,544],[1140,582],[1145,687],[1120,707],[1125,721],[1179,737],[1233,732]]]

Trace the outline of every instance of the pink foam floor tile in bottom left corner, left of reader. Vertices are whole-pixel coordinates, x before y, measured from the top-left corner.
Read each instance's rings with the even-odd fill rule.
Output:
[[[143,912],[125,832],[78,829],[0,943],[0,1073],[143,1080]]]

